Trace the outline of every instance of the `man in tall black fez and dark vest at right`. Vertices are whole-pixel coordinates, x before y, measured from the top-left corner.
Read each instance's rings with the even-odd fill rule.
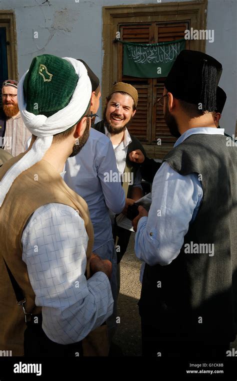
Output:
[[[132,221],[145,262],[139,313],[144,356],[225,358],[237,331],[237,148],[213,121],[221,64],[182,51],[164,84],[178,137],[158,169],[147,213]]]

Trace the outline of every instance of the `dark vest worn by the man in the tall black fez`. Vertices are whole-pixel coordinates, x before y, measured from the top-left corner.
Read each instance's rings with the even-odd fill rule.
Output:
[[[140,315],[164,334],[231,341],[237,332],[237,147],[226,146],[223,135],[195,134],[163,161],[182,175],[200,174],[203,199],[177,258],[167,266],[145,265]],[[186,244],[213,244],[214,255],[189,254]]]

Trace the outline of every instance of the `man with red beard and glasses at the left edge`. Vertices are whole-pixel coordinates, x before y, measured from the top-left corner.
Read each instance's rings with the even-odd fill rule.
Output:
[[[0,129],[0,145],[12,156],[24,152],[27,139],[31,136],[25,127],[17,103],[18,82],[7,79],[2,83],[2,115]]]

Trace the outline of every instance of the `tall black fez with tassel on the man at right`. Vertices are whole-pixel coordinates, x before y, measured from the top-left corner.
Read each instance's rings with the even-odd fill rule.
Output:
[[[222,65],[213,57],[182,50],[165,79],[164,86],[177,99],[198,105],[202,111],[216,110],[216,89]]]

